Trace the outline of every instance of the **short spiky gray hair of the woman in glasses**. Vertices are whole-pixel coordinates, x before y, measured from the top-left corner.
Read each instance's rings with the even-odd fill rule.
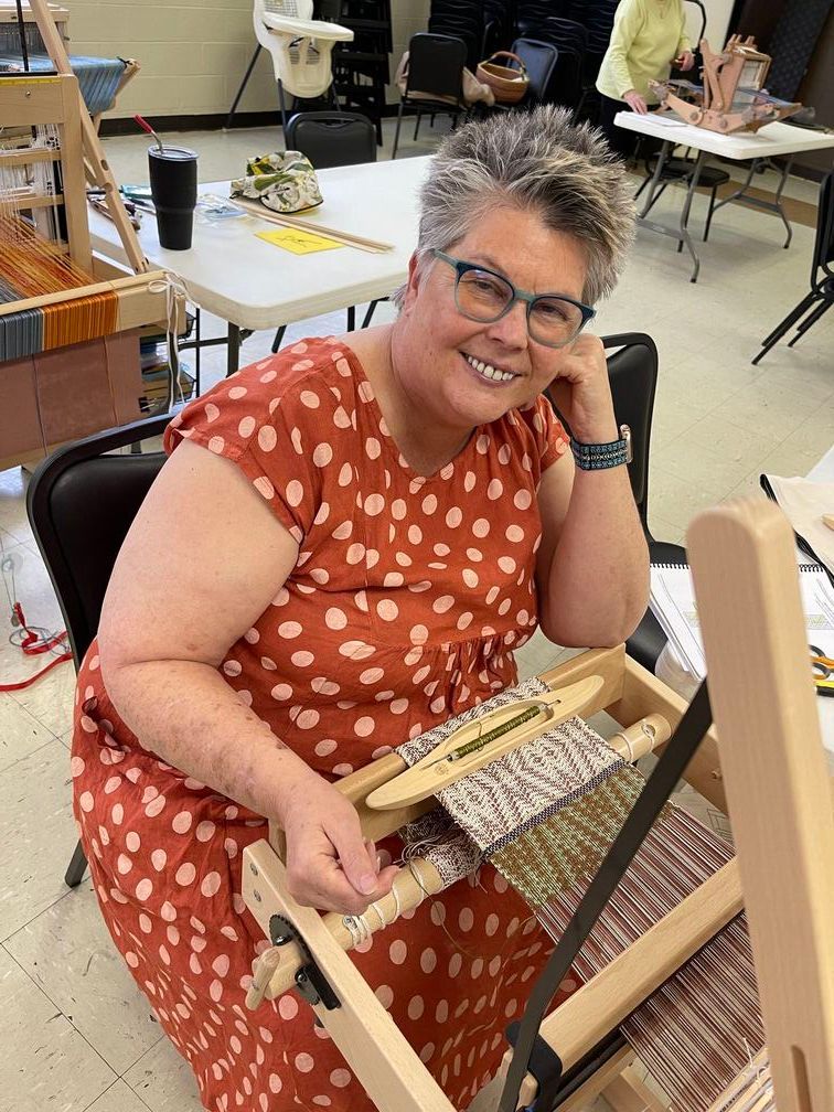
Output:
[[[565,109],[545,105],[453,132],[420,191],[418,268],[434,250],[463,239],[490,208],[509,203],[572,236],[587,256],[583,299],[595,305],[607,297],[634,239],[634,203],[623,166],[602,133],[569,120]],[[403,307],[405,287],[393,300]]]

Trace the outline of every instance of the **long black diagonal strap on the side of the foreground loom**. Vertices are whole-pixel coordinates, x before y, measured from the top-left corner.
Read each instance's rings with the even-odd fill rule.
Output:
[[[550,954],[530,992],[520,1025],[515,1032],[513,1061],[507,1072],[498,1112],[516,1112],[518,1093],[532,1059],[547,1062],[549,1069],[535,1071],[539,1082],[538,1095],[530,1105],[533,1112],[550,1112],[557,1098],[562,1078],[562,1062],[540,1037],[538,1031],[556,990],[566,976],[585,940],[602,915],[623,875],[648,834],[665,803],[692,759],[693,754],[713,724],[709,693],[703,681],[695,696],[672,735],[663,756],[646,781],[643,791],[612,843],[599,871],[596,873],[579,906],[565,929],[558,945]],[[546,1052],[546,1053],[545,1053]]]

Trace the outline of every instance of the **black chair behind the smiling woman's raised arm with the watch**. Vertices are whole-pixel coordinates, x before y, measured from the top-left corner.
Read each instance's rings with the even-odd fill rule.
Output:
[[[618,425],[632,430],[633,459],[628,478],[637,513],[648,543],[653,564],[686,564],[686,549],[666,540],[655,540],[648,528],[648,449],[652,439],[652,413],[657,387],[657,347],[643,332],[623,332],[602,337],[608,364],[608,381]],[[626,642],[626,652],[649,672],[666,644],[666,635],[651,610]]]

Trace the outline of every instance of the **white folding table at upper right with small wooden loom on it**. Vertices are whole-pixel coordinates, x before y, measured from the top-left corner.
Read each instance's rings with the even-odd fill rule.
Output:
[[[742,200],[755,208],[776,212],[782,217],[787,229],[787,240],[784,245],[787,247],[791,242],[792,232],[791,225],[782,207],[782,190],[787,179],[791,163],[788,161],[785,167],[774,201],[765,201],[746,191],[753,180],[755,163],[759,159],[775,158],[778,155],[793,156],[804,150],[821,150],[826,147],[834,147],[834,132],[808,131],[782,122],[768,123],[755,133],[736,132],[729,136],[719,135],[717,131],[707,131],[705,128],[696,128],[692,123],[684,123],[674,112],[649,112],[647,116],[641,116],[637,112],[631,111],[617,112],[614,117],[614,122],[617,127],[625,128],[628,131],[636,131],[639,135],[652,136],[655,139],[663,140],[663,148],[657,158],[652,181],[649,182],[648,196],[637,216],[637,224],[639,227],[648,228],[661,236],[672,236],[673,239],[678,241],[678,245],[686,245],[686,249],[692,256],[694,264],[689,281],[697,281],[701,259],[695,251],[686,225],[689,219],[689,209],[692,208],[692,200],[698,185],[701,170],[707,155],[719,155],[723,158],[732,158],[738,162],[749,161],[751,163],[747,180],[741,189],[737,189],[732,196],[725,197],[715,208],[717,209],[721,205],[726,205],[731,200]],[[688,179],[688,188],[681,209],[678,225],[676,228],[671,228],[656,220],[649,220],[647,214],[652,208],[652,202],[655,199],[657,190],[661,188],[664,167],[672,157],[675,147],[692,147],[693,150],[698,152],[698,156]]]

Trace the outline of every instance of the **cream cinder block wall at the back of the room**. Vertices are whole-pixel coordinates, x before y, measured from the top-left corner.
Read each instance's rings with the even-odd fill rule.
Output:
[[[78,54],[135,57],[140,72],[119,97],[115,118],[226,113],[256,47],[251,0],[63,0],[70,48]],[[429,0],[393,0],[397,61],[425,31]],[[396,102],[393,87],[389,102]],[[278,98],[271,59],[261,51],[240,111],[272,111]]]

